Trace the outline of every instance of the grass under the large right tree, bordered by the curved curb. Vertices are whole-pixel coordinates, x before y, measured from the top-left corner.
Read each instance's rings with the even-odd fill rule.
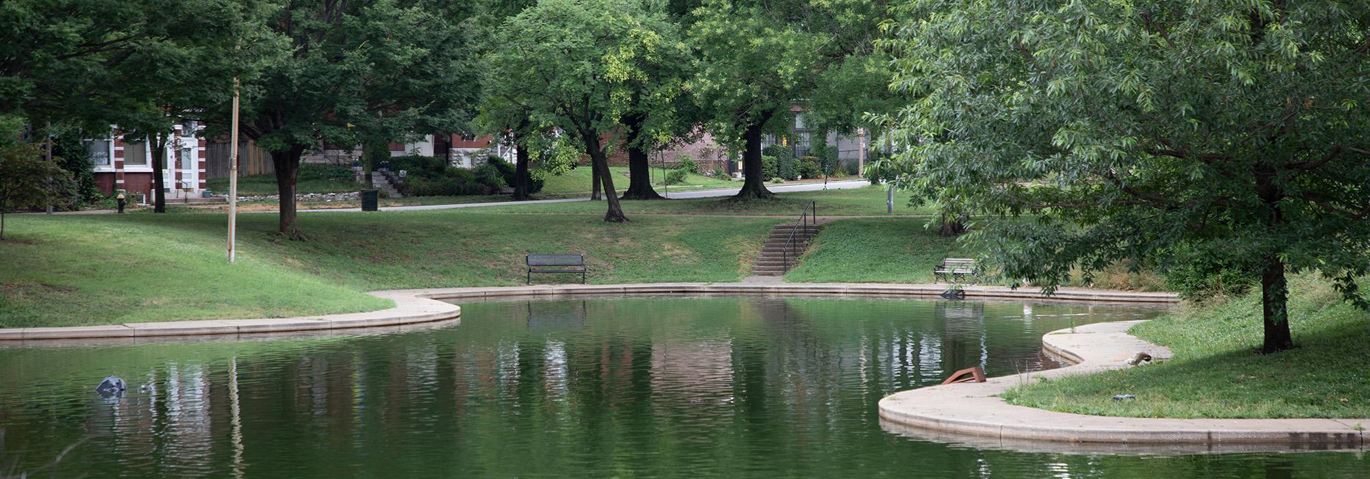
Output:
[[[1370,417],[1370,312],[1310,276],[1291,282],[1296,349],[1256,354],[1259,292],[1138,324],[1132,334],[1174,359],[1130,370],[1037,382],[1010,404],[1133,417]],[[1114,394],[1136,401],[1114,401]],[[1363,424],[1370,427],[1370,424]]]

